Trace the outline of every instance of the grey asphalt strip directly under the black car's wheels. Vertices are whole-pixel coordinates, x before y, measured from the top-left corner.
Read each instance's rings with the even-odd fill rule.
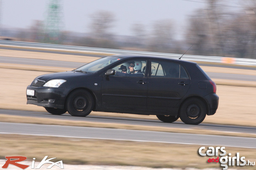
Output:
[[[25,116],[33,118],[49,118],[58,120],[73,120],[73,121],[89,121],[92,123],[118,123],[124,125],[143,125],[143,126],[155,126],[155,127],[166,127],[166,128],[180,128],[180,129],[198,129],[202,130],[216,130],[223,132],[238,132],[238,133],[248,133],[256,134],[256,127],[250,126],[233,126],[233,125],[214,125],[201,123],[199,125],[187,125],[182,122],[174,123],[164,123],[160,120],[150,120],[150,119],[134,119],[134,118],[121,118],[121,117],[106,117],[88,115],[87,117],[73,117],[66,113],[63,115],[52,115],[47,112],[31,112],[31,111],[15,111],[15,110],[4,110],[0,109],[0,114]],[[121,114],[121,113],[120,113]],[[145,118],[147,115],[145,115]]]

